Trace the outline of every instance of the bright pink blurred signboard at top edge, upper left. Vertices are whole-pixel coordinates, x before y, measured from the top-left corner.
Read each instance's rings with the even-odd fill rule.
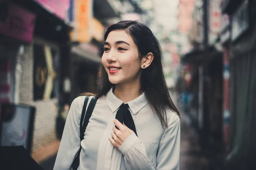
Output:
[[[70,0],[34,0],[43,8],[62,20],[67,19],[67,11],[70,5]]]

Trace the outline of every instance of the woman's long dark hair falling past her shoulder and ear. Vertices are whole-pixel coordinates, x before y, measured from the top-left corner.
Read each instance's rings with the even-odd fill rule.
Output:
[[[105,33],[105,40],[111,31],[124,30],[134,40],[138,47],[140,59],[151,52],[154,59],[148,68],[142,69],[141,91],[145,92],[148,102],[160,119],[163,128],[168,127],[166,108],[174,111],[178,116],[180,112],[172,102],[163,73],[162,50],[157,38],[144,24],[137,21],[121,21],[111,25]],[[108,79],[108,73],[103,65],[99,69],[97,78],[98,94],[96,97],[104,96],[114,86]]]

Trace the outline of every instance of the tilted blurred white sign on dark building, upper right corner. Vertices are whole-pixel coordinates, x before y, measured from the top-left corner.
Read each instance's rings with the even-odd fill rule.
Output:
[[[232,16],[231,40],[234,41],[250,26],[249,24],[249,3],[245,0]]]

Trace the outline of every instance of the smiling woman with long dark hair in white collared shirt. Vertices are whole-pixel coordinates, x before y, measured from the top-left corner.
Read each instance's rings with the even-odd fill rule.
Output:
[[[105,33],[99,98],[81,141],[80,170],[178,170],[179,111],[169,96],[162,52],[151,30],[121,21]],[[80,147],[79,122],[85,96],[67,117],[55,170],[70,170]],[[128,104],[136,132],[115,119]]]

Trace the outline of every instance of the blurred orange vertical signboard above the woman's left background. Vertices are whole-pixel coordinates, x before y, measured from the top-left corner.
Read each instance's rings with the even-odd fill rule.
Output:
[[[78,42],[90,42],[93,37],[93,0],[72,0],[70,7],[71,40]]]

